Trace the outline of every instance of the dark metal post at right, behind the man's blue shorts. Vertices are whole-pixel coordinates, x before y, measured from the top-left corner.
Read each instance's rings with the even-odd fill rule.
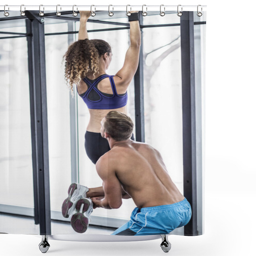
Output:
[[[192,217],[184,227],[184,235],[197,235],[196,196],[196,100],[193,12],[180,17],[181,79],[183,120],[183,186],[184,196],[192,207]]]

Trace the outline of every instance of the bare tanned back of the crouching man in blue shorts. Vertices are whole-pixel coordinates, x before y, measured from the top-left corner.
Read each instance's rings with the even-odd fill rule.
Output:
[[[104,177],[113,180],[116,176],[110,186],[116,186],[118,180],[119,186],[139,208],[174,204],[184,199],[172,182],[160,153],[146,143],[116,141],[111,150],[101,156],[96,169],[103,180],[103,187],[107,182],[104,190],[109,188],[109,197],[112,193]],[[115,196],[118,193],[116,190]]]

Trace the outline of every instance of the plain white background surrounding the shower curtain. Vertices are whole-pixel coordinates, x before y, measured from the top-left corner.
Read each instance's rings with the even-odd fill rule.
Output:
[[[169,236],[172,256],[255,255],[255,3],[130,0],[136,5],[207,5],[205,234]],[[231,3],[231,1],[230,1]],[[120,5],[121,1],[24,1],[9,5]],[[40,238],[1,235],[1,255],[41,255]],[[160,240],[62,242],[47,255],[163,255]]]

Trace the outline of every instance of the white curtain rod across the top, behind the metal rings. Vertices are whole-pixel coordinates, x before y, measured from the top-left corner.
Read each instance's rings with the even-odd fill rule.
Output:
[[[75,5],[75,11],[126,11],[126,5]],[[197,5],[180,5],[179,10],[185,11],[197,11]],[[6,5],[5,11],[33,11],[39,10],[39,5]],[[177,11],[177,5],[162,5],[161,10],[167,11]],[[0,5],[0,10],[4,11],[4,5]],[[56,11],[56,5],[41,5],[40,10],[43,11]],[[61,11],[73,11],[73,5],[58,5],[58,12]],[[160,11],[160,5],[144,5],[142,10],[142,5],[129,5],[128,11]],[[206,11],[206,5],[199,5],[199,11]]]

